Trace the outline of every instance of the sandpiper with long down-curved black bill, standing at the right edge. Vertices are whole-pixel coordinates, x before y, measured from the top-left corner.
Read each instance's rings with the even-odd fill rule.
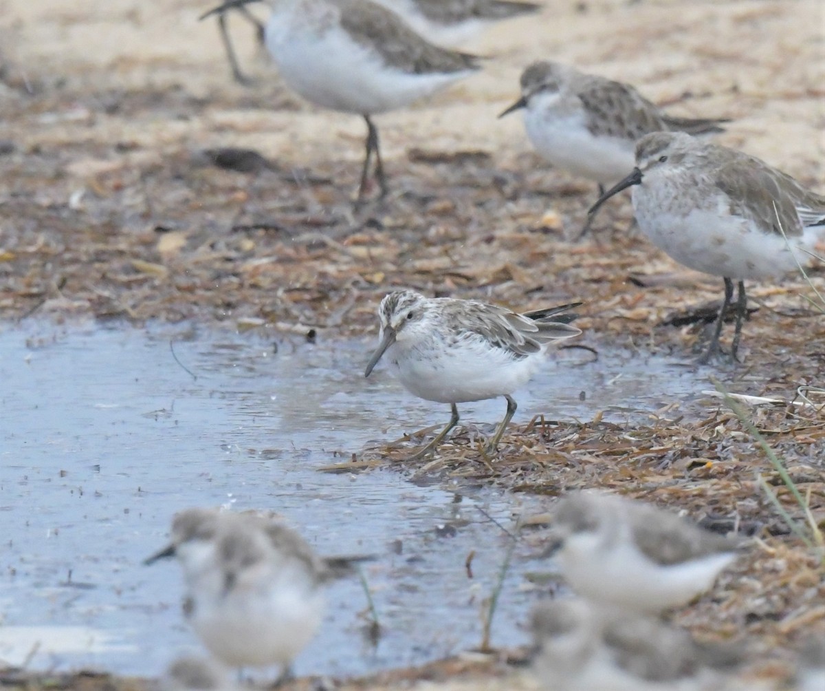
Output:
[[[719,351],[738,282],[735,361],[747,309],[745,281],[808,263],[825,231],[825,196],[755,156],[679,132],[639,140],[633,172],[605,192],[590,215],[626,187],[633,187],[636,220],[653,244],[686,267],[724,278],[724,301],[700,363]]]

